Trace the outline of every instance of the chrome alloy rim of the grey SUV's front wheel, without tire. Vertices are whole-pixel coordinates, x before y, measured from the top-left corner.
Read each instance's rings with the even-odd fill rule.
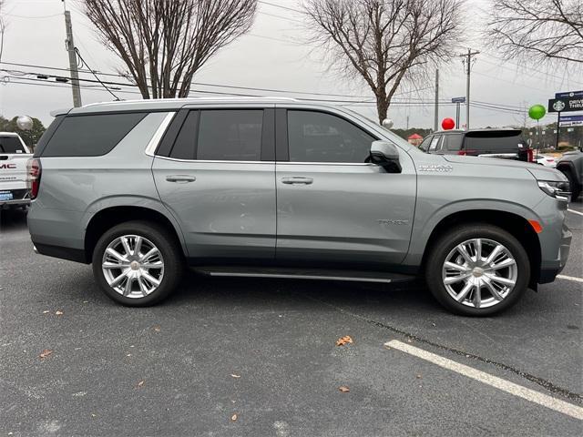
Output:
[[[517,284],[517,261],[493,239],[468,239],[445,257],[445,290],[459,303],[488,308],[505,300]]]

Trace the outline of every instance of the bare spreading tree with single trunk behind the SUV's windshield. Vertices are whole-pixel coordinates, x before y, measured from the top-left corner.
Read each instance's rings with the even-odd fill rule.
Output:
[[[403,80],[448,60],[462,35],[463,0],[307,0],[315,38],[333,64],[373,90],[379,120]],[[456,52],[455,52],[456,53]]]

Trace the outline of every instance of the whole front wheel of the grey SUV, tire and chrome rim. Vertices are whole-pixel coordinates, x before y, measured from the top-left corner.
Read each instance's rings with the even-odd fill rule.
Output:
[[[520,242],[488,224],[450,229],[435,242],[425,279],[446,309],[468,316],[506,310],[527,290],[530,263]]]

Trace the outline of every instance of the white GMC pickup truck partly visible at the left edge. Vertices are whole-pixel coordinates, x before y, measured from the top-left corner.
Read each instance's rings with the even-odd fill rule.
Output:
[[[26,164],[32,154],[14,132],[0,132],[0,209],[26,208]]]

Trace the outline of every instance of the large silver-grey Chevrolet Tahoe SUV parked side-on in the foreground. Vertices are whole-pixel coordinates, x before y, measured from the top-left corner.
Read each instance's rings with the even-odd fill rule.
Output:
[[[175,99],[56,115],[29,164],[44,255],[93,263],[128,306],[212,276],[394,282],[486,315],[568,258],[567,179],[500,159],[430,155],[343,107]]]

